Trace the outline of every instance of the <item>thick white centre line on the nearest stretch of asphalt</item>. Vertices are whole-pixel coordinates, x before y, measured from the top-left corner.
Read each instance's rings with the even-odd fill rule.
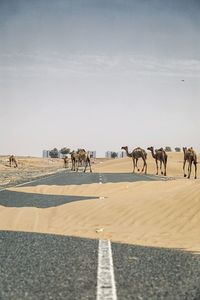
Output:
[[[117,300],[112,250],[109,240],[99,240],[97,300]]]

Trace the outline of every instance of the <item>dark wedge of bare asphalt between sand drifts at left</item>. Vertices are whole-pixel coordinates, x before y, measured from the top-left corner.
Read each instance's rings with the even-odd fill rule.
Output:
[[[64,205],[70,202],[90,199],[98,199],[98,197],[44,195],[34,193],[13,192],[8,190],[2,191],[0,193],[0,205],[5,207],[49,208]]]

